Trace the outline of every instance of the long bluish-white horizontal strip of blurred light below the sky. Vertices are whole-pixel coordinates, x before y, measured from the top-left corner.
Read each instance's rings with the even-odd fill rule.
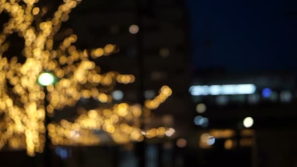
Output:
[[[256,86],[254,84],[194,85],[189,91],[193,96],[253,94]]]

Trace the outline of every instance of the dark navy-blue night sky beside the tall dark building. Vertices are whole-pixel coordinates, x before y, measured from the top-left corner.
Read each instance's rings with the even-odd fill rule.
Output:
[[[188,6],[194,68],[297,70],[296,0],[188,0]]]

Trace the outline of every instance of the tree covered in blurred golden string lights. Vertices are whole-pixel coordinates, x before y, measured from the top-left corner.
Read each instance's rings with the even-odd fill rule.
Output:
[[[144,107],[127,103],[107,105],[113,102],[111,93],[116,83],[135,81],[131,74],[102,73],[93,62],[117,52],[116,45],[77,49],[74,43],[78,37],[73,31],[62,33],[64,40],[56,43],[54,37],[62,22],[69,19],[69,13],[81,0],[64,0],[52,18],[43,18],[47,10],[36,6],[36,2],[0,2],[0,13],[10,16],[0,32],[0,148],[8,143],[13,148],[26,148],[27,154],[33,156],[43,151],[46,128],[54,145],[100,144],[95,130],[104,130],[116,143],[173,135],[172,128],[142,130],[139,126],[143,110],[157,108],[171,95],[168,86],[163,86],[160,94]],[[132,25],[129,31],[135,34],[139,27]],[[8,59],[11,55],[6,52],[10,43],[7,39],[13,33],[24,40],[24,47],[18,57]],[[24,63],[20,63],[20,57],[25,58]],[[44,89],[48,92],[46,97]],[[103,105],[81,112],[74,122],[62,120],[44,126],[45,111],[54,114],[55,110],[74,106],[81,98],[97,99]]]

